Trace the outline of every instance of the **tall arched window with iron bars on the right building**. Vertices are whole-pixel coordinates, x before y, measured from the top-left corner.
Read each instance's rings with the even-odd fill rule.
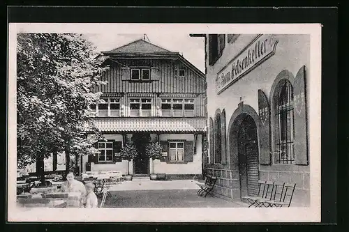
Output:
[[[274,93],[274,125],[276,127],[274,142],[274,162],[276,164],[292,164],[295,162],[294,153],[294,114],[292,84],[282,79]]]

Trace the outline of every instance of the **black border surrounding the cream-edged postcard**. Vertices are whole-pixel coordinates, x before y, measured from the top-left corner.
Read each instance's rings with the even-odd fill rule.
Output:
[[[22,3],[22,2],[20,2]],[[338,8],[283,8],[283,7],[268,7],[268,8],[174,8],[174,7],[152,7],[152,8],[134,8],[134,7],[113,7],[113,8],[94,8],[94,7],[9,7],[7,9],[8,23],[9,22],[148,22],[148,23],[321,23],[322,24],[322,224],[327,226],[311,226],[306,224],[303,228],[314,229],[314,231],[329,231],[334,229],[334,224],[339,223],[343,225],[343,215],[339,217],[337,215],[337,171],[338,176],[347,176],[348,173],[344,173],[344,169],[337,170],[337,33],[338,33]],[[232,16],[233,15],[233,16]],[[7,24],[8,31],[8,24]],[[8,34],[6,34],[6,40],[8,40]],[[6,44],[7,45],[7,44]],[[6,77],[7,72],[6,72]],[[7,79],[6,79],[7,83]],[[7,85],[6,85],[7,86]],[[343,92],[345,93],[345,91]],[[6,100],[8,95],[6,95]],[[343,98],[339,99],[343,100]],[[7,104],[7,101],[6,101]],[[7,107],[7,105],[6,105]],[[342,109],[343,110],[343,109]],[[344,122],[345,118],[341,118]],[[331,123],[328,123],[331,122]],[[7,120],[6,120],[7,125]],[[344,124],[348,125],[348,123]],[[342,127],[343,128],[343,127]],[[343,130],[343,129],[342,129]],[[348,142],[348,137],[346,138]],[[346,143],[343,140],[343,143]],[[343,146],[343,144],[338,144]],[[7,146],[7,144],[5,145]],[[346,149],[346,151],[348,151]],[[6,159],[6,155],[3,155]],[[345,155],[343,155],[345,157]],[[343,158],[341,157],[341,158]],[[345,159],[345,158],[344,158]],[[343,167],[347,163],[346,160],[342,162]],[[6,164],[4,160],[3,164]],[[6,169],[3,169],[6,171]],[[348,170],[346,170],[348,172]],[[4,173],[6,178],[6,173]],[[345,182],[345,181],[344,181]],[[6,179],[5,179],[6,183]],[[343,189],[346,186],[343,186]],[[346,189],[347,190],[347,189]],[[324,194],[326,193],[326,194]],[[338,200],[343,201],[345,197],[348,197],[346,192],[339,195]],[[7,201],[7,196],[6,196]],[[343,201],[348,203],[348,201]],[[345,208],[345,204],[342,205],[341,212],[345,212],[349,205]],[[339,207],[342,207],[339,205]],[[7,209],[7,207],[6,207]],[[348,211],[347,211],[348,212]],[[348,218],[346,218],[348,219]],[[7,218],[6,218],[7,222]],[[41,224],[24,224],[19,223],[17,226],[13,226],[14,223],[7,222],[12,231],[23,231],[28,229],[34,229],[35,231],[43,230],[48,231],[53,229],[49,226],[50,223]],[[73,223],[68,223],[64,226],[64,229],[70,231],[73,229]],[[81,223],[74,223],[81,224]],[[94,223],[100,226],[100,223]],[[129,223],[128,228],[124,225],[119,226],[118,229],[135,229],[140,230],[139,223]],[[217,223],[218,224],[218,223]],[[227,225],[221,224],[219,229],[229,229]],[[331,225],[332,224],[332,225]],[[9,226],[11,225],[11,226]],[[237,228],[245,227],[244,224],[235,224]],[[241,226],[240,226],[241,225]],[[86,230],[88,227],[91,229],[91,224],[80,227]],[[156,224],[149,224],[149,229],[156,229]],[[199,229],[200,226],[205,226],[205,230],[213,230],[212,224],[202,224],[200,226],[193,226],[192,223],[185,225],[188,229]],[[15,228],[14,228],[15,227]],[[61,225],[57,224],[57,230],[61,229]],[[102,226],[101,226],[102,227]],[[182,226],[166,223],[162,226],[163,229],[181,229]],[[257,225],[255,223],[249,224],[248,229],[251,231],[295,231],[301,229],[302,225],[288,226],[288,224],[262,224]],[[101,228],[102,229],[102,228]],[[110,230],[114,230],[112,226]],[[80,231],[76,227],[74,231]],[[107,230],[103,226],[102,230]],[[51,231],[51,230],[50,230]]]

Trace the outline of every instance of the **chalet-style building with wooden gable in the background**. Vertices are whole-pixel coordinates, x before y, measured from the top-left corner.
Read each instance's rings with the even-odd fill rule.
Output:
[[[82,158],[82,171],[119,170],[127,174],[166,173],[169,178],[202,174],[202,140],[206,133],[205,75],[179,52],[140,39],[103,52],[110,70],[96,86],[101,99],[94,121],[107,141],[99,153]],[[163,147],[161,160],[139,156],[121,160],[121,148],[138,137]]]

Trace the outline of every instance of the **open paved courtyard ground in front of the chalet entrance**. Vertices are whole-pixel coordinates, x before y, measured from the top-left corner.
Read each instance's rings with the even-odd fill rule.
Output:
[[[196,195],[195,180],[133,180],[110,188],[112,197],[104,208],[238,208],[241,201],[227,201],[214,196]]]

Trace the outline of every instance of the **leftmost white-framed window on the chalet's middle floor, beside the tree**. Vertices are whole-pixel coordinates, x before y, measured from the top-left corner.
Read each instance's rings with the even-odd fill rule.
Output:
[[[99,117],[120,116],[120,98],[101,98],[97,105],[91,105]]]

